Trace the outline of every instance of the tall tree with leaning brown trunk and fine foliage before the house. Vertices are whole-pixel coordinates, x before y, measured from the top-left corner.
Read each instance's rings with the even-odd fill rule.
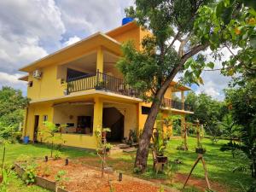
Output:
[[[143,51],[135,49],[131,42],[124,44],[124,57],[118,62],[126,83],[143,93],[150,92],[151,95],[143,95],[145,99],[152,101],[152,105],[139,141],[135,163],[142,171],[147,166],[148,145],[166,89],[176,74],[183,70],[186,61],[208,46],[200,42],[192,44],[191,41],[195,37],[193,25],[196,12],[208,2],[137,0],[136,9],[126,9],[127,15],[137,19],[139,25],[153,33],[153,36],[143,39]],[[181,43],[178,51],[174,48],[176,41]],[[194,80],[196,83],[201,81],[196,77]]]

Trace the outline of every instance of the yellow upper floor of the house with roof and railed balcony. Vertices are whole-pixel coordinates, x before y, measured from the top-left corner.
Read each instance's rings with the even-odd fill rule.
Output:
[[[32,102],[72,96],[87,90],[113,92],[117,96],[137,98],[137,90],[125,84],[123,75],[115,67],[122,55],[120,46],[127,40],[132,40],[137,49],[142,48],[142,40],[150,32],[130,22],[110,32],[97,32],[84,38],[76,44],[60,49],[32,64],[20,68],[28,73],[20,80],[27,81],[27,96]],[[173,92],[181,92],[180,109],[183,107],[183,92],[188,87],[175,82],[166,90],[166,106],[175,106],[172,101]]]

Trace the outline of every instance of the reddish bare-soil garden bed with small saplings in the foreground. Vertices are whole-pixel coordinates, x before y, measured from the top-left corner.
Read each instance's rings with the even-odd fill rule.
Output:
[[[49,160],[44,162],[43,160],[37,161],[37,178],[36,184],[44,188],[48,188],[48,185],[54,184],[55,177],[58,172],[65,172],[62,177],[65,179],[61,183],[61,186],[65,190],[71,192],[86,192],[86,191],[98,191],[98,192],[109,192],[111,189],[113,191],[133,191],[133,192],[157,192],[160,191],[160,184],[155,184],[143,179],[138,179],[135,177],[129,177],[123,175],[122,181],[119,181],[119,173],[108,172],[104,173],[102,177],[102,172],[99,168],[91,167],[79,163],[78,161],[70,161],[68,166],[65,166],[65,160]],[[48,170],[45,174],[45,170]],[[21,176],[23,174],[22,168],[16,164],[16,172]],[[47,175],[47,176],[45,176]],[[47,182],[51,184],[46,184]],[[42,184],[43,183],[43,184]],[[49,189],[49,188],[48,188]],[[53,189],[55,189],[53,187]],[[51,191],[54,191],[52,188]],[[58,191],[61,191],[59,189]],[[165,188],[165,191],[177,191],[175,189]]]

